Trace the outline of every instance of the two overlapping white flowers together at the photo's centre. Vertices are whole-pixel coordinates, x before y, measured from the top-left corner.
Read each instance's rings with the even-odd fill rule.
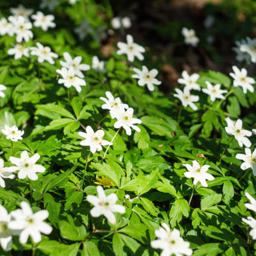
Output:
[[[110,111],[110,116],[117,119],[114,127],[117,129],[123,127],[126,130],[127,135],[132,134],[130,127],[137,132],[140,132],[140,128],[134,124],[141,124],[141,121],[140,119],[133,118],[133,108],[129,107],[127,104],[123,104],[119,97],[115,99],[110,91],[106,92],[106,96],[107,99],[103,97],[100,98],[105,102],[105,104],[102,105],[102,108],[108,109]]]

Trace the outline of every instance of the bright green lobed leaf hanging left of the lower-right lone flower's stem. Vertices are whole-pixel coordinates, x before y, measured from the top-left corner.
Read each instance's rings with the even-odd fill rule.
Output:
[[[177,199],[169,212],[171,226],[176,227],[176,222],[179,223],[182,220],[182,216],[188,217],[189,212],[190,205],[188,205],[188,201],[185,199]]]

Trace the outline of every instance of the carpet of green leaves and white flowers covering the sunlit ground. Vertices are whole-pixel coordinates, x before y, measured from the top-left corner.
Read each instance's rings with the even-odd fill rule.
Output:
[[[255,255],[256,39],[166,92],[111,2],[20,4],[0,3],[0,254]]]

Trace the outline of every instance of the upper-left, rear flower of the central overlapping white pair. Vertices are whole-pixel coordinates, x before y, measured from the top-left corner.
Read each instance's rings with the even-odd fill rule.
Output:
[[[116,118],[116,116],[119,116],[120,112],[123,112],[125,108],[128,108],[127,104],[123,104],[121,102],[121,99],[114,98],[113,95],[110,93],[110,91],[106,91],[107,99],[104,97],[101,97],[100,99],[105,102],[105,104],[102,105],[103,109],[108,109],[110,112],[110,116],[112,118]]]

